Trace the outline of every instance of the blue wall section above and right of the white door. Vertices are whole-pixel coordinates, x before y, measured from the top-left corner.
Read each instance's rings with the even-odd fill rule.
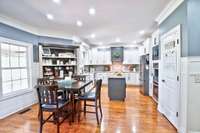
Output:
[[[188,56],[188,35],[187,35],[187,2],[183,2],[165,21],[159,25],[160,36],[173,27],[181,24],[182,47],[181,56]]]

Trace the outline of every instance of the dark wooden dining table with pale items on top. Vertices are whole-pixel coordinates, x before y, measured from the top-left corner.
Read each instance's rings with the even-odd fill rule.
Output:
[[[75,81],[71,84],[63,84],[59,86],[59,89],[70,93],[70,98],[72,100],[72,122],[74,122],[74,116],[75,116],[75,94],[80,94],[80,92],[90,84],[92,84],[93,81]]]

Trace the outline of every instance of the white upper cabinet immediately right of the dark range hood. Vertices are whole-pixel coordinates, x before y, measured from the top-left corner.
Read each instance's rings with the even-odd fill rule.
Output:
[[[139,64],[139,63],[140,63],[139,49],[124,48],[123,64]]]

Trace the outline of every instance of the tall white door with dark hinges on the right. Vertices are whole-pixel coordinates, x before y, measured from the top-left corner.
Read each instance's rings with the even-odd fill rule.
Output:
[[[177,128],[180,92],[180,26],[161,37],[161,104],[163,114]]]

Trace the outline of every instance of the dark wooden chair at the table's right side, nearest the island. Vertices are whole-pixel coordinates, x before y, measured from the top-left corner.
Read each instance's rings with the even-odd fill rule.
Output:
[[[102,80],[97,80],[95,83],[95,90],[93,91],[93,89],[91,89],[90,91],[86,92],[84,95],[81,95],[78,97],[79,100],[79,111],[78,111],[78,121],[80,121],[80,114],[81,112],[84,112],[84,114],[86,113],[96,113],[96,119],[97,119],[97,124],[99,125],[99,115],[98,115],[98,109],[100,110],[101,113],[101,119],[103,117],[103,113],[102,113],[102,108],[101,108],[101,85],[102,85]],[[84,104],[84,110],[82,111],[81,109],[81,101],[90,101],[90,102],[94,102],[94,104]],[[94,107],[95,108],[95,112],[91,112],[91,111],[87,111],[86,107]]]

